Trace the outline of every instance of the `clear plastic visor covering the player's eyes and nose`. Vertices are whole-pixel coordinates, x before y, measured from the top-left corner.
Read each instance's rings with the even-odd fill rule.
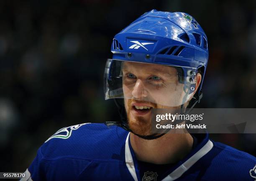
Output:
[[[136,99],[156,104],[154,107],[177,107],[195,93],[196,70],[108,59],[105,66],[105,99]]]

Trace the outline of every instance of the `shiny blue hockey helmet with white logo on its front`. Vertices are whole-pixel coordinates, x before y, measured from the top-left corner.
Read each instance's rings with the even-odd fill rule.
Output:
[[[118,60],[179,67],[178,70],[182,70],[179,71],[179,77],[185,84],[188,84],[189,80],[192,82],[195,78],[193,76],[200,70],[202,79],[195,94],[196,99],[199,99],[208,61],[207,37],[191,15],[157,10],[144,13],[115,35],[111,51],[113,58],[108,59],[105,69],[105,74],[108,74],[105,99],[124,98],[121,84],[118,87],[117,81],[111,82],[113,77],[121,77],[120,70],[115,70],[121,68],[118,66]],[[191,99],[189,94],[195,89],[195,84],[192,82],[187,87],[187,98],[177,104]],[[161,103],[164,104],[164,101],[161,100]]]

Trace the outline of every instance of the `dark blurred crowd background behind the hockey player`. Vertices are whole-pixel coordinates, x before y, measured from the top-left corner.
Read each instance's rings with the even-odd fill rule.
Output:
[[[119,119],[104,100],[113,36],[146,11],[203,27],[209,64],[199,107],[256,107],[256,1],[1,0],[0,171],[25,171],[61,127]],[[212,134],[256,156],[256,134]]]

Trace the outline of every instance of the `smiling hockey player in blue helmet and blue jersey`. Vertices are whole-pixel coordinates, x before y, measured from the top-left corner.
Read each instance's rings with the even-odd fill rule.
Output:
[[[153,109],[191,110],[202,97],[207,37],[187,13],[151,10],[118,33],[105,99],[121,119],[57,131],[26,170],[28,181],[254,181],[256,158],[208,134],[152,133]],[[123,102],[122,102],[123,101]]]

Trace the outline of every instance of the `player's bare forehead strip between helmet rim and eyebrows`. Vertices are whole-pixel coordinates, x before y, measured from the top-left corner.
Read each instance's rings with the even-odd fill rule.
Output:
[[[147,64],[140,62],[123,62],[123,69],[128,71],[138,71],[138,73],[148,72],[148,73],[164,73],[164,74],[177,74],[177,69],[172,66],[157,65],[157,64]]]

